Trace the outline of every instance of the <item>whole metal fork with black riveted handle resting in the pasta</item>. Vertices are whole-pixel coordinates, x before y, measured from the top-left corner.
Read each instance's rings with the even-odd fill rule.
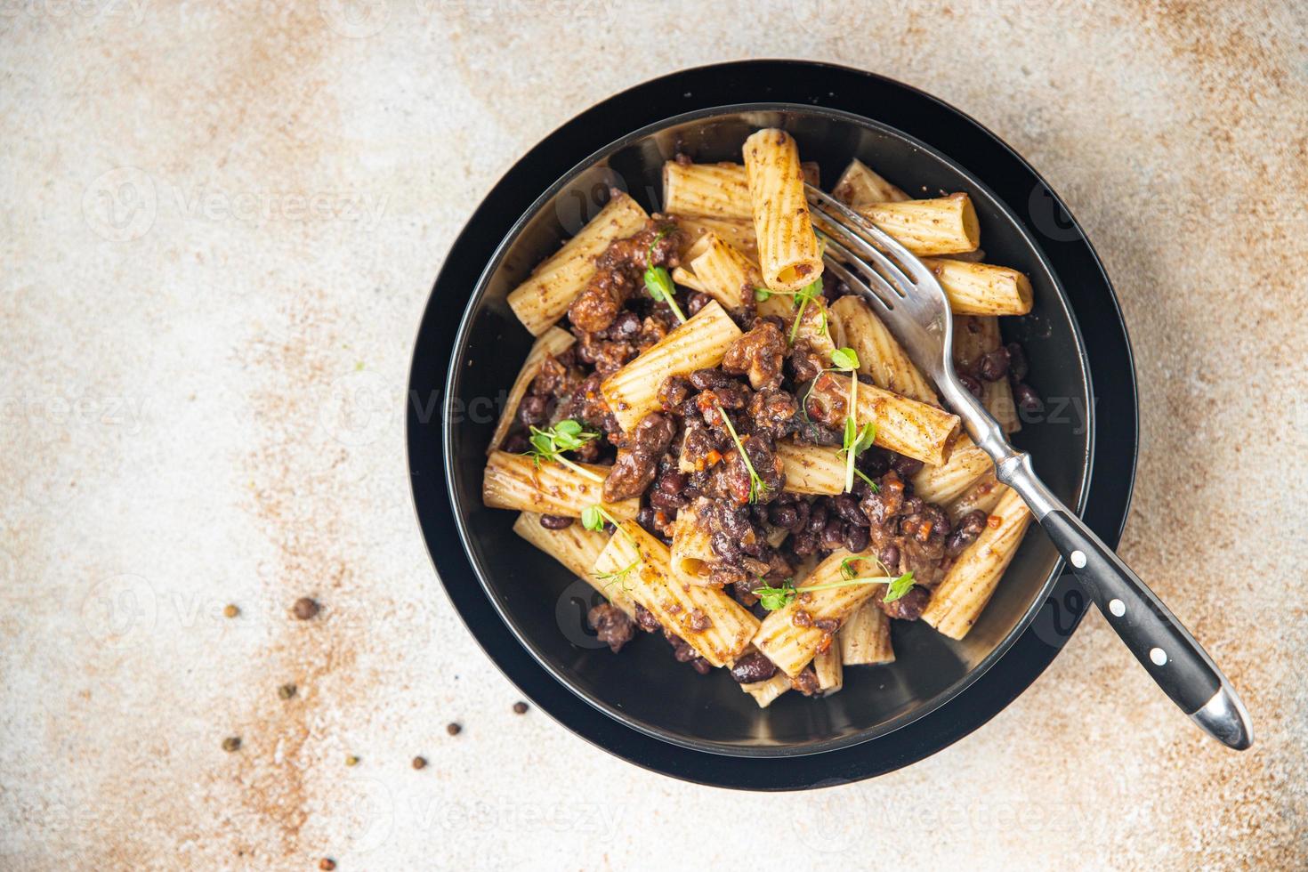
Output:
[[[1201,729],[1236,750],[1248,748],[1253,743],[1249,713],[1213,659],[1154,591],[1045,488],[1031,455],[1008,444],[1003,429],[959,380],[951,353],[954,319],[931,271],[853,209],[804,187],[814,225],[827,241],[827,265],[867,301],[935,382],[968,435],[994,460],[995,477],[1027,502],[1109,626]]]

